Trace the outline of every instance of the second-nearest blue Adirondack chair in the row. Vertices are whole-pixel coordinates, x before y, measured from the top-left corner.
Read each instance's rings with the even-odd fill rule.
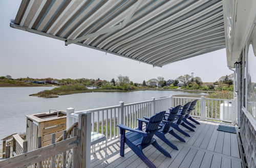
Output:
[[[177,135],[173,128],[171,128],[170,126],[172,125],[172,123],[175,121],[175,117],[176,115],[178,114],[179,112],[179,109],[180,109],[181,105],[177,105],[176,107],[172,108],[172,109],[169,109],[170,112],[169,112],[169,115],[165,115],[164,117],[164,120],[162,121],[162,123],[160,124],[160,126],[162,127],[161,129],[159,129],[155,135],[157,137],[159,137],[163,142],[165,142],[168,146],[170,146],[171,148],[175,149],[175,150],[178,150],[177,146],[174,145],[172,142],[170,142],[166,137],[165,137],[165,134],[166,133],[170,133],[172,134],[174,137],[176,137],[177,139],[179,139],[180,141],[182,142],[185,142],[185,140],[180,137],[179,135]],[[144,119],[146,120],[149,120],[150,118],[148,117],[144,117]],[[139,120],[139,124],[142,124],[142,120],[141,119],[138,119]],[[142,121],[142,122],[141,122]]]

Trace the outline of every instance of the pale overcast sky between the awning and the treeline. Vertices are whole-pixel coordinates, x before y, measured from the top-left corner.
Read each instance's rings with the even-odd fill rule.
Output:
[[[175,62],[163,68],[139,63],[110,53],[40,36],[9,26],[21,1],[0,0],[0,76],[13,78],[100,78],[111,80],[127,75],[134,82],[157,76],[175,79],[180,75],[200,76],[204,82],[216,81],[230,74],[226,51],[221,49],[198,57]]]

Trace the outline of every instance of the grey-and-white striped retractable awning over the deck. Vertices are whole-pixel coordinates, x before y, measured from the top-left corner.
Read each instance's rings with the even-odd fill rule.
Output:
[[[159,67],[225,48],[220,0],[23,0],[11,27]]]

